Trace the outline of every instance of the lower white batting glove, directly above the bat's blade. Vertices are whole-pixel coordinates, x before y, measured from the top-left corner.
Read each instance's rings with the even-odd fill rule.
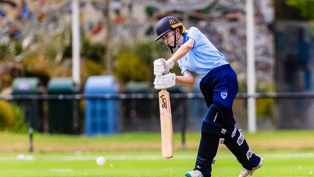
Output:
[[[156,76],[154,80],[155,89],[167,89],[176,85],[176,74],[169,73],[162,76]]]

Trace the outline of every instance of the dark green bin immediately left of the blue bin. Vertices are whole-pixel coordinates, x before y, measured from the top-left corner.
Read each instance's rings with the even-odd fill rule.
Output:
[[[79,101],[64,99],[65,95],[79,93],[72,78],[53,78],[49,80],[48,95],[59,95],[48,101],[49,133],[79,133]]]

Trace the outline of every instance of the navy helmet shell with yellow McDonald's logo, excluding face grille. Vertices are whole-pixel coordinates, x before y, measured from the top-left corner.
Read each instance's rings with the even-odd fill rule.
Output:
[[[180,27],[181,33],[185,32],[185,28],[182,25],[182,23],[173,16],[166,16],[159,20],[156,24],[156,32],[157,32],[157,38],[155,41],[159,40],[165,33],[169,32],[170,30],[173,30],[177,27]]]

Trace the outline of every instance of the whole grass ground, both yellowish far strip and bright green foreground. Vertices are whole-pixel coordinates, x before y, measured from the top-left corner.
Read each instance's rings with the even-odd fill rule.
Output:
[[[174,134],[175,156],[163,159],[160,132],[110,136],[34,134],[28,154],[27,134],[0,132],[0,177],[184,177],[194,168],[200,133]],[[254,153],[265,158],[254,177],[314,177],[314,131],[277,130],[245,133]],[[20,153],[24,153],[21,156]],[[104,166],[96,158],[106,159]],[[238,177],[241,166],[220,146],[213,177]]]

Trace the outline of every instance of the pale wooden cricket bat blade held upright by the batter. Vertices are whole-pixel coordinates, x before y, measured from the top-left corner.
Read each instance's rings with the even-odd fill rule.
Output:
[[[163,158],[172,158],[173,156],[172,117],[169,92],[166,89],[162,89],[159,92],[159,112],[162,134],[162,155]]]

